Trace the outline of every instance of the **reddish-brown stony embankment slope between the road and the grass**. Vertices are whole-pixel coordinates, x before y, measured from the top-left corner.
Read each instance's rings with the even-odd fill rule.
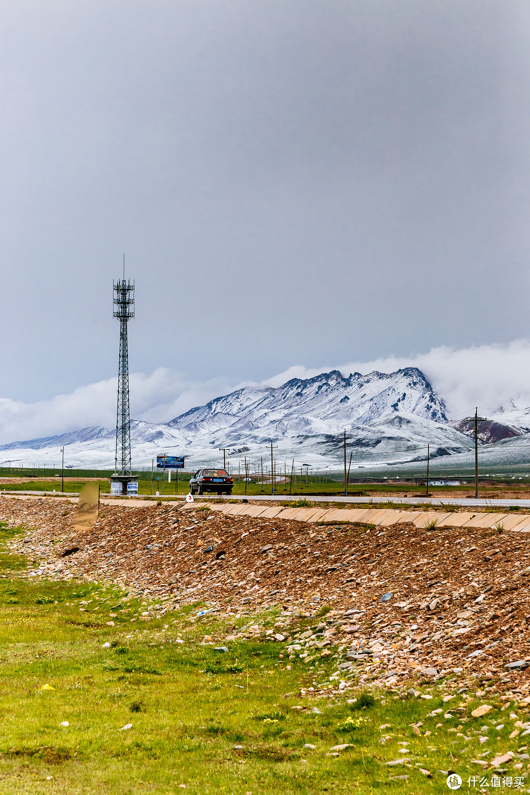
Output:
[[[13,551],[39,561],[27,576],[106,580],[157,601],[120,621],[201,602],[227,619],[253,617],[207,642],[273,637],[305,665],[333,657],[333,692],[353,682],[413,692],[443,680],[464,699],[472,690],[530,704],[522,533],[320,526],[156,502],[103,506],[78,533],[74,511],[64,499],[0,498],[0,518],[27,528]],[[265,630],[259,615],[274,605],[280,616]]]

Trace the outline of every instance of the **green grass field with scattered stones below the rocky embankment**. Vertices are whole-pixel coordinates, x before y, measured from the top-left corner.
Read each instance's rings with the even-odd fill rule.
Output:
[[[2,528],[0,544],[20,532]],[[163,600],[117,586],[26,580],[26,560],[2,549],[2,793],[443,793],[443,771],[467,781],[482,775],[472,758],[524,743],[509,733],[528,711],[493,694],[480,718],[473,693],[443,704],[447,681],[420,686],[428,700],[404,688],[307,699],[300,687],[329,685],[332,657],[308,669],[265,637],[215,652],[229,622],[272,627],[280,607],[235,620],[197,618],[203,603],[161,615]],[[296,629],[314,622],[300,617]],[[403,745],[407,761],[385,766]],[[524,777],[520,765],[509,774]]]

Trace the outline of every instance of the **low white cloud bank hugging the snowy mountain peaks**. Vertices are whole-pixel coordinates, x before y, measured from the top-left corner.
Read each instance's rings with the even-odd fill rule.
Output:
[[[513,401],[518,409],[530,405],[530,342],[516,340],[507,345],[481,345],[453,349],[436,347],[411,357],[389,356],[372,362],[328,365],[318,369],[292,366],[284,373],[267,378],[263,386],[280,386],[289,378],[341,370],[344,374],[372,370],[384,373],[415,366],[424,371],[435,390],[447,402],[451,417],[469,414],[478,405],[482,413],[493,413]],[[250,382],[247,382],[250,384]],[[23,403],[0,398],[0,443],[33,439],[86,428],[93,425],[114,427],[116,423],[117,379],[110,378],[49,401]],[[246,386],[234,385],[226,378],[190,382],[183,374],[159,368],[150,375],[130,376],[131,416],[149,422],[167,422],[203,405],[212,397]],[[253,385],[257,386],[257,385]]]

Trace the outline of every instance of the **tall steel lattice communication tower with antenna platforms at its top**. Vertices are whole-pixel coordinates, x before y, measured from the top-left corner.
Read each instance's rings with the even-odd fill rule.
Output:
[[[113,283],[114,317],[120,321],[120,360],[118,372],[118,414],[116,417],[116,475],[132,475],[130,458],[129,351],[127,323],[134,317],[134,282],[125,277]]]

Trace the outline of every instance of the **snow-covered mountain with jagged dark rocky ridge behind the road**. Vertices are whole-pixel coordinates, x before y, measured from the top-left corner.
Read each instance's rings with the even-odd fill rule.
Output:
[[[355,462],[418,460],[470,450],[472,440],[447,424],[443,399],[416,367],[394,373],[374,371],[344,377],[339,370],[313,378],[292,378],[281,386],[245,386],[166,424],[131,422],[134,467],[150,467],[157,453],[187,456],[187,468],[219,463],[219,448],[229,460],[243,456],[253,464],[271,440],[275,457],[296,466],[338,467],[342,433]],[[69,467],[112,467],[114,429],[87,428],[45,439],[0,447],[5,460],[37,466],[60,462],[65,446]]]

